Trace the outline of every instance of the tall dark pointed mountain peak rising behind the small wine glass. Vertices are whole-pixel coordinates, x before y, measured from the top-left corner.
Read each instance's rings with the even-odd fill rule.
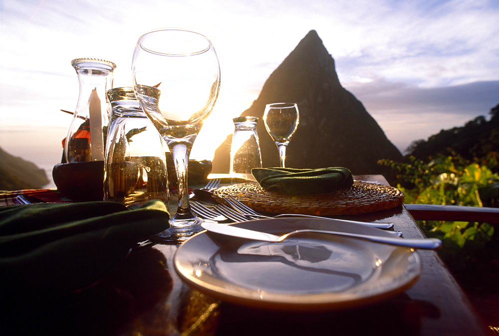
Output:
[[[278,151],[262,120],[265,104],[296,102],[300,124],[287,147],[286,167],[343,166],[354,174],[380,174],[379,159],[401,160],[402,154],[336,74],[334,59],[315,30],[310,30],[270,74],[258,98],[242,116],[260,120],[257,132],[263,167],[279,165]],[[213,160],[213,172],[229,171],[223,143]]]

